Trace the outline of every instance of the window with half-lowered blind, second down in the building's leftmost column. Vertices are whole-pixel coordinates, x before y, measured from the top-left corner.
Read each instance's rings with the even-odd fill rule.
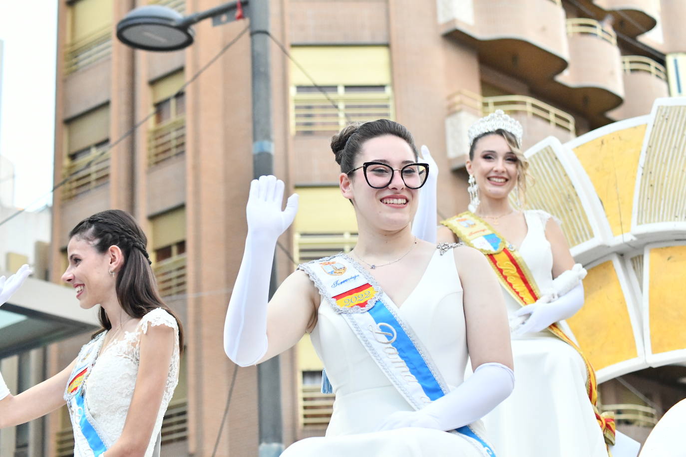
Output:
[[[67,154],[62,188],[68,200],[110,180],[110,108],[108,105],[78,116],[66,125]]]

